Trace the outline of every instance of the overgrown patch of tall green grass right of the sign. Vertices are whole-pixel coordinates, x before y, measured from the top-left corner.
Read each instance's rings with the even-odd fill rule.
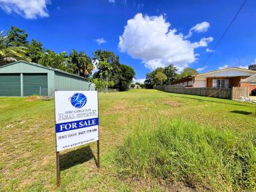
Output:
[[[123,176],[210,191],[256,191],[256,134],[183,120],[141,121],[117,153]]]

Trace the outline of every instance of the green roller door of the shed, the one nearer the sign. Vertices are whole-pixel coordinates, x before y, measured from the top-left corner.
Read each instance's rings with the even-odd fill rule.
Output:
[[[47,74],[23,74],[23,95],[48,95]]]

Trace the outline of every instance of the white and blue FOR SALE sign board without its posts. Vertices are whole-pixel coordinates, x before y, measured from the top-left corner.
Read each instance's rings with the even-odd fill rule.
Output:
[[[56,151],[99,140],[97,91],[55,91]]]

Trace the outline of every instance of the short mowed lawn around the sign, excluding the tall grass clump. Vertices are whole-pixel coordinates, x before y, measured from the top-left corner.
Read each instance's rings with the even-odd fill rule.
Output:
[[[139,122],[184,119],[216,129],[255,131],[255,104],[226,99],[132,90],[99,94],[101,168],[96,145],[61,152],[57,188],[54,102],[0,98],[0,191],[165,191],[158,181],[119,176],[115,152]]]

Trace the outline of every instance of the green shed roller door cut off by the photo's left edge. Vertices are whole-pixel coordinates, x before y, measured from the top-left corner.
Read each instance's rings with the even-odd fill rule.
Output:
[[[0,74],[0,96],[21,96],[20,74]]]

